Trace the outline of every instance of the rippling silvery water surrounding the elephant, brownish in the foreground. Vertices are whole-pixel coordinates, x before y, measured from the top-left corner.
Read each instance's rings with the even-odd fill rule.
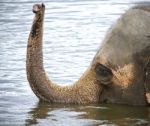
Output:
[[[149,0],[147,0],[149,1]],[[139,0],[0,0],[0,126],[147,126],[150,108],[40,103],[26,79],[27,38],[34,3],[46,4],[44,64],[71,84],[89,66],[105,32]]]

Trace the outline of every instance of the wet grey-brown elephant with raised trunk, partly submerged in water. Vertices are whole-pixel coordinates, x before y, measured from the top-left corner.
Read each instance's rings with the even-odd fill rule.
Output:
[[[27,79],[35,95],[50,103],[150,103],[150,5],[128,9],[106,33],[83,75],[72,85],[59,86],[43,65],[45,5],[33,6],[35,17],[29,33]]]

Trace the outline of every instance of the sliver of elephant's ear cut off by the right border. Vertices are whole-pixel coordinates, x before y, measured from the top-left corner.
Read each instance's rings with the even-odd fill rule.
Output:
[[[150,104],[150,58],[145,64],[144,67],[145,77],[144,77],[144,88],[147,103]]]

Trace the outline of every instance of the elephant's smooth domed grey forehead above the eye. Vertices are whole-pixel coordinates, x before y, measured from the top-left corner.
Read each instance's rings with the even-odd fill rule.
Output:
[[[127,11],[107,33],[96,57],[101,62],[124,65],[150,46],[150,13]]]

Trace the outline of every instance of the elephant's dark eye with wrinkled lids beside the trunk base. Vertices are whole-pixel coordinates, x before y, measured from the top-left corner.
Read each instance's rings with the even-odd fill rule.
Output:
[[[97,64],[95,67],[95,72],[97,76],[97,80],[99,80],[102,84],[111,83],[113,73],[112,71],[102,64]]]

